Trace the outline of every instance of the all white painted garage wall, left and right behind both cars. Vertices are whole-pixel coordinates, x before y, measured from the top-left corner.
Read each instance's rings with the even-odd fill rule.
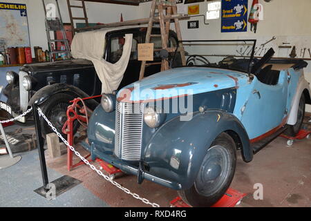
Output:
[[[30,32],[30,44],[34,46],[41,46],[46,50],[48,47],[45,25],[44,25],[44,10],[41,0],[6,0],[12,3],[26,3],[28,10],[28,25]],[[53,0],[46,0],[46,3],[53,3]],[[75,1],[72,1],[73,3]],[[181,21],[183,39],[238,39],[238,38],[252,38],[252,39],[270,39],[272,36],[292,36],[299,39],[299,37],[310,37],[311,39],[311,1],[310,0],[273,0],[270,3],[265,3],[259,0],[264,7],[264,20],[258,23],[256,34],[254,32],[240,32],[240,33],[221,33],[220,19],[209,20],[209,25],[205,25],[203,17],[192,18],[192,20],[200,21],[199,29],[187,29],[187,21]],[[69,15],[66,5],[66,0],[59,0],[63,21],[69,23]],[[249,0],[249,10],[252,5],[252,0]],[[96,23],[110,23],[120,21],[120,14],[123,14],[124,20],[139,19],[149,17],[151,3],[142,3],[140,6],[123,6],[109,3],[91,3],[86,2],[89,22]],[[79,12],[76,9],[74,15],[82,16],[82,10]],[[207,10],[207,2],[200,3],[200,14],[205,14]],[[248,24],[247,30],[250,29]],[[299,40],[298,40],[299,41]],[[274,44],[280,42],[275,41]],[[297,43],[299,44],[299,43]],[[302,43],[300,43],[303,46]],[[311,48],[311,42],[306,48]],[[32,52],[33,53],[33,52]],[[297,50],[300,54],[300,48]],[[305,57],[308,57],[306,52]],[[308,68],[305,69],[305,77],[311,82],[311,62]],[[311,112],[311,106],[307,110]]]

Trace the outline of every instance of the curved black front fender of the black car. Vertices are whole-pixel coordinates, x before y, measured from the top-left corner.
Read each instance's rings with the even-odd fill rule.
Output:
[[[28,106],[32,106],[33,103],[36,103],[38,106],[44,104],[47,99],[58,93],[66,93],[73,95],[74,97],[89,97],[89,95],[87,95],[83,90],[73,85],[64,83],[51,84],[37,90],[35,95],[33,95],[28,102]],[[94,110],[97,105],[98,103],[94,99],[87,101],[88,108],[91,108],[92,110]]]

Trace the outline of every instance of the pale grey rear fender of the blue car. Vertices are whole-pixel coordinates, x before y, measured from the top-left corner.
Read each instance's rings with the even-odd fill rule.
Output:
[[[294,99],[292,102],[292,108],[290,110],[290,115],[288,117],[288,122],[287,124],[294,125],[297,122],[297,113],[298,113],[298,108],[299,108],[299,100],[301,95],[305,95],[305,102],[306,104],[311,104],[311,98],[310,98],[310,86],[308,81],[305,80],[303,75],[301,75],[299,79],[299,84],[296,89],[296,94],[294,95]]]

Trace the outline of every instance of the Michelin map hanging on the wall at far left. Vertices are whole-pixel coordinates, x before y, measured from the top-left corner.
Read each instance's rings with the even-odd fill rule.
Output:
[[[30,46],[26,4],[0,2],[0,46]]]

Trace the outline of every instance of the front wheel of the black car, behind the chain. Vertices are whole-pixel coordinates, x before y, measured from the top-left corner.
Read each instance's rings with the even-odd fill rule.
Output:
[[[48,120],[57,128],[57,131],[62,134],[62,136],[67,139],[66,135],[62,133],[62,128],[67,120],[66,111],[68,106],[70,105],[70,101],[75,97],[73,95],[68,95],[65,93],[58,93],[53,95],[49,99],[46,100],[43,104],[41,104],[41,111],[48,117]],[[74,134],[77,132],[77,128],[79,127],[79,122],[75,122],[73,125]],[[41,119],[41,131],[42,137],[46,138],[48,133],[53,133],[52,128],[48,126],[44,119]]]

